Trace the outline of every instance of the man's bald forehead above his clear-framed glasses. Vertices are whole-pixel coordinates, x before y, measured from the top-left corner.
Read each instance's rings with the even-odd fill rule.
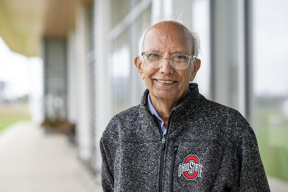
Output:
[[[192,54],[192,35],[183,25],[175,23],[158,23],[146,33],[144,51],[157,51],[161,53]]]

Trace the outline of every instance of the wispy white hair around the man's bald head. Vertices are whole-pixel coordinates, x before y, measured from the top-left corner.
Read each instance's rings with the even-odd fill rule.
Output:
[[[147,24],[146,27],[143,28],[143,35],[141,37],[141,41],[140,41],[140,45],[139,45],[139,55],[141,55],[141,53],[143,52],[143,49],[144,49],[144,39],[145,39],[145,36],[147,34],[147,32],[149,31],[149,29],[157,24],[157,23],[165,23],[165,22],[173,22],[175,24],[182,24],[184,27],[186,27],[193,39],[192,39],[192,55],[196,56],[196,58],[198,58],[198,54],[201,52],[201,49],[200,49],[200,39],[199,39],[199,35],[197,32],[195,32],[194,30],[192,30],[192,28],[190,27],[191,25],[186,25],[185,22],[183,21],[182,19],[182,12],[179,14],[179,15],[168,15],[166,14],[165,12],[162,12],[161,14],[159,15],[150,15],[150,20],[151,22]]]

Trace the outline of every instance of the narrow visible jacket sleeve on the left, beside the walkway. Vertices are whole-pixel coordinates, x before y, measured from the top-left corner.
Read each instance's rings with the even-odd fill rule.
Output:
[[[101,183],[103,192],[113,192],[114,191],[114,177],[110,171],[107,156],[105,153],[103,139],[100,140],[100,152],[102,157],[101,165]]]

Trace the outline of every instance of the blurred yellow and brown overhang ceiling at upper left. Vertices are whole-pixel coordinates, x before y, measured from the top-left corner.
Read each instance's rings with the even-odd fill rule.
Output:
[[[12,51],[40,56],[43,37],[65,38],[75,7],[90,0],[0,0],[0,36]]]

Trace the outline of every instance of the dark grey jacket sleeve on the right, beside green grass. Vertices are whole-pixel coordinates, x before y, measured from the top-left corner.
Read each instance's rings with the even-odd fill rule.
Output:
[[[240,163],[238,191],[270,192],[258,149],[257,139],[247,121],[238,139],[238,158]]]

